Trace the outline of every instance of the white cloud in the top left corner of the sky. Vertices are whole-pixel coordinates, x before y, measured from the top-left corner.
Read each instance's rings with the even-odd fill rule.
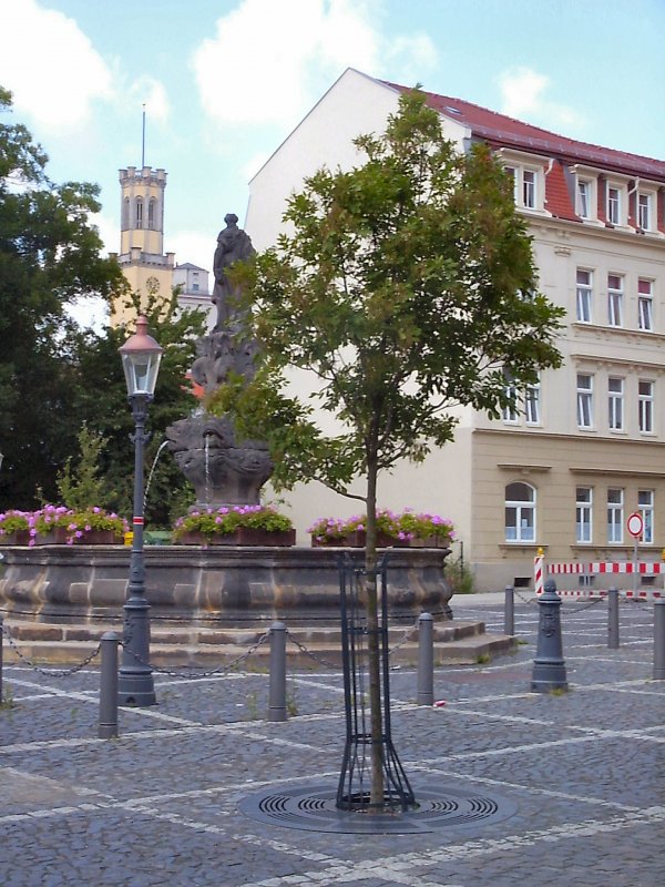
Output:
[[[111,98],[111,70],[72,19],[34,0],[11,0],[2,18],[0,83],[18,110],[66,128],[83,123],[93,101]]]

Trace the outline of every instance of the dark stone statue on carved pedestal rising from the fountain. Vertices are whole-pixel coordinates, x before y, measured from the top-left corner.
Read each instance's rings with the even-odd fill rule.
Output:
[[[214,258],[217,323],[207,336],[196,340],[192,378],[213,394],[229,373],[249,381],[254,378],[256,341],[245,328],[245,312],[239,307],[239,288],[231,285],[226,272],[234,262],[254,255],[252,241],[237,226],[238,217],[224,217]],[[273,472],[268,447],[260,440],[238,440],[228,416],[211,416],[203,410],[180,419],[166,429],[175,461],[196,490],[194,508],[257,504],[260,488]]]

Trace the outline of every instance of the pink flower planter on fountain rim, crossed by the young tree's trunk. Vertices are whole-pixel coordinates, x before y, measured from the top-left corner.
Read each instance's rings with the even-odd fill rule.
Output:
[[[319,518],[307,532],[311,544],[365,548],[367,517]],[[452,521],[438,514],[417,513],[409,509],[395,513],[388,509],[377,512],[378,548],[448,548],[454,539]]]

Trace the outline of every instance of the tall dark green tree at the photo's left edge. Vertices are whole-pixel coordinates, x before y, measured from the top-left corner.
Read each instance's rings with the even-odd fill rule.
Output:
[[[0,115],[10,111],[0,88]],[[0,118],[0,501],[16,508],[35,504],[38,487],[53,497],[76,446],[75,324],[65,309],[80,296],[110,298],[124,282],[90,223],[99,188],[53,184],[47,162],[23,125]]]

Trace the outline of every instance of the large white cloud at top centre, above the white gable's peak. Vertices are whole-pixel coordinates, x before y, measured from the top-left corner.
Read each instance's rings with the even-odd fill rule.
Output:
[[[193,55],[201,101],[219,126],[293,125],[348,67],[397,78],[430,68],[426,34],[388,40],[381,0],[243,0]],[[406,67],[405,67],[406,65]]]

